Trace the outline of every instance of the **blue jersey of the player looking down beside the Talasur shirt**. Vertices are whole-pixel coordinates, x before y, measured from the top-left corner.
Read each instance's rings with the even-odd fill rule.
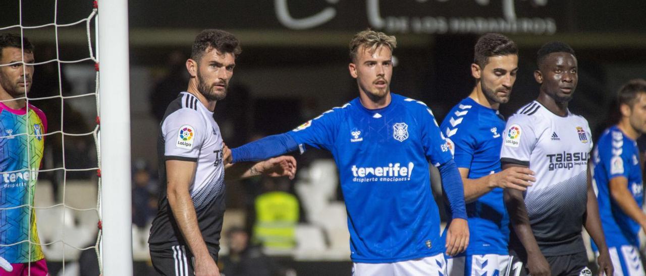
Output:
[[[497,110],[476,103],[470,97],[453,106],[440,126],[453,150],[458,168],[468,168],[469,179],[501,171],[501,133],[505,121]],[[509,216],[503,201],[503,189],[466,204],[470,235],[463,255],[507,255]],[[446,239],[446,231],[443,233]]]

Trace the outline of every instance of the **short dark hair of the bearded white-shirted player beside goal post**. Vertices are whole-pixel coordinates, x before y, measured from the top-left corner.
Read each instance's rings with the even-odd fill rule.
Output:
[[[240,41],[229,32],[217,29],[203,30],[195,37],[191,59],[200,62],[202,55],[207,51],[215,49],[222,54],[233,54],[235,57],[242,53]]]

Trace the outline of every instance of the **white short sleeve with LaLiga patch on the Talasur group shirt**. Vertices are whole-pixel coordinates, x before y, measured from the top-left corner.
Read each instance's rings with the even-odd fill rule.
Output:
[[[514,115],[509,118],[503,132],[501,163],[529,166],[532,149],[538,140],[534,127],[535,125],[531,124],[525,115]]]

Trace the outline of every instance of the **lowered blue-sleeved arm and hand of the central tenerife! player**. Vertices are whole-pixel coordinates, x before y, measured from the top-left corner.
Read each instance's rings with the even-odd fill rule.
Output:
[[[466,222],[464,188],[457,165],[453,159],[438,168],[452,214],[452,220],[446,231],[446,254],[453,256],[462,253],[469,245],[469,226]]]

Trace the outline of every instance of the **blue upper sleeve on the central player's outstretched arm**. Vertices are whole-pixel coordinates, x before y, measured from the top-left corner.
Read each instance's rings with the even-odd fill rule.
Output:
[[[300,153],[305,152],[306,148],[332,150],[335,129],[341,123],[340,112],[340,108],[333,108],[287,132],[298,144]]]

